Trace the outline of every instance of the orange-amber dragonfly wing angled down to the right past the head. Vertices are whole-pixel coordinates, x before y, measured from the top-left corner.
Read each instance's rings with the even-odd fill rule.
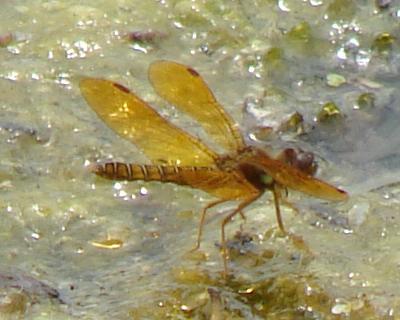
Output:
[[[345,191],[267,155],[259,155],[258,157],[246,160],[246,162],[264,170],[282,186],[310,196],[333,201],[346,200],[348,197]]]

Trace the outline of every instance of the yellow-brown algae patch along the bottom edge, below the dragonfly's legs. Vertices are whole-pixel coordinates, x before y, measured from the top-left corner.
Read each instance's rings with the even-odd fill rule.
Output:
[[[218,287],[217,302],[209,294],[214,287],[195,281],[186,289],[160,293],[169,297],[154,306],[131,310],[131,318],[336,320],[379,317],[365,297],[333,298],[311,275],[282,274],[259,282],[230,281]]]

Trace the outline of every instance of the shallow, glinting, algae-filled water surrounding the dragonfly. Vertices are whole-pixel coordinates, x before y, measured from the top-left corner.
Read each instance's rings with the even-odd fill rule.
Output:
[[[1,315],[400,318],[400,7],[354,3],[1,3]],[[210,143],[152,91],[147,68],[158,59],[195,68],[250,143],[313,151],[319,177],[350,200],[291,193],[299,214],[284,207],[285,225],[303,245],[279,236],[266,194],[245,223],[229,225],[234,278],[223,281],[219,221],[234,204],[218,208],[200,252],[189,254],[210,196],[102,180],[87,167],[147,160],[85,103],[82,76],[124,84]],[[328,102],[341,116],[323,121]],[[295,111],[305,133],[277,130]],[[275,133],[254,139],[265,127]],[[107,239],[116,248],[98,246]]]

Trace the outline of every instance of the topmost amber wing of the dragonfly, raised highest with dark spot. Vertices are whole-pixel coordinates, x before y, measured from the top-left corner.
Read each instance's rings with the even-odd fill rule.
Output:
[[[196,119],[226,151],[243,147],[237,125],[195,70],[172,61],[156,61],[149,68],[149,80],[160,97]]]

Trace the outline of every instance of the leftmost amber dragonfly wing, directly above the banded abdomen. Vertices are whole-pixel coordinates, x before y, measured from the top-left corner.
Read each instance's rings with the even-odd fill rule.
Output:
[[[98,116],[133,142],[154,163],[207,166],[216,155],[201,141],[161,117],[127,88],[112,81],[85,78],[82,95]]]

